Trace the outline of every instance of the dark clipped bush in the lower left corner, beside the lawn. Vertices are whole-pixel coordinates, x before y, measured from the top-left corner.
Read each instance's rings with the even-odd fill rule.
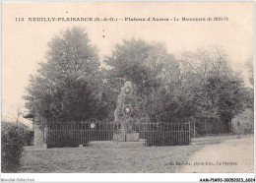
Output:
[[[23,147],[28,143],[29,130],[21,123],[1,123],[2,172],[16,172],[20,166]]]

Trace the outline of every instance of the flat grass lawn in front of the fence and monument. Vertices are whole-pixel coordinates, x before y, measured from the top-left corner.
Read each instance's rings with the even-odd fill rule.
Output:
[[[141,142],[92,142],[84,148],[25,147],[20,173],[174,173],[207,144],[235,136],[193,139],[190,146],[145,147]],[[173,165],[174,164],[174,165]]]

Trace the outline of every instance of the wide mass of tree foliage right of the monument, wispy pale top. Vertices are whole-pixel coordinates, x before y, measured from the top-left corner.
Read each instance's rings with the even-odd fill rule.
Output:
[[[184,53],[176,77],[166,72],[148,100],[151,119],[169,123],[173,117],[218,118],[230,131],[231,118],[252,106],[253,94],[227,64],[218,48]]]

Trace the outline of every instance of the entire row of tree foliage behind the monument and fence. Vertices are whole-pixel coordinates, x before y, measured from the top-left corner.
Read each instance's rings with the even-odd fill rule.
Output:
[[[235,114],[253,108],[253,91],[245,88],[217,47],[174,57],[161,43],[123,40],[99,68],[96,48],[84,30],[66,30],[48,46],[45,62],[31,77],[25,96],[27,107],[42,123],[90,118],[111,121],[117,95],[127,81],[136,86],[135,121],[213,118],[221,120],[228,132]],[[251,65],[249,68],[252,84]]]

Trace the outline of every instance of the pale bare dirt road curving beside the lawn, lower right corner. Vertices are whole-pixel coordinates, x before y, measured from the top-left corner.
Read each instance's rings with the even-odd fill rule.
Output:
[[[183,166],[182,173],[253,173],[253,136],[205,146]]]

